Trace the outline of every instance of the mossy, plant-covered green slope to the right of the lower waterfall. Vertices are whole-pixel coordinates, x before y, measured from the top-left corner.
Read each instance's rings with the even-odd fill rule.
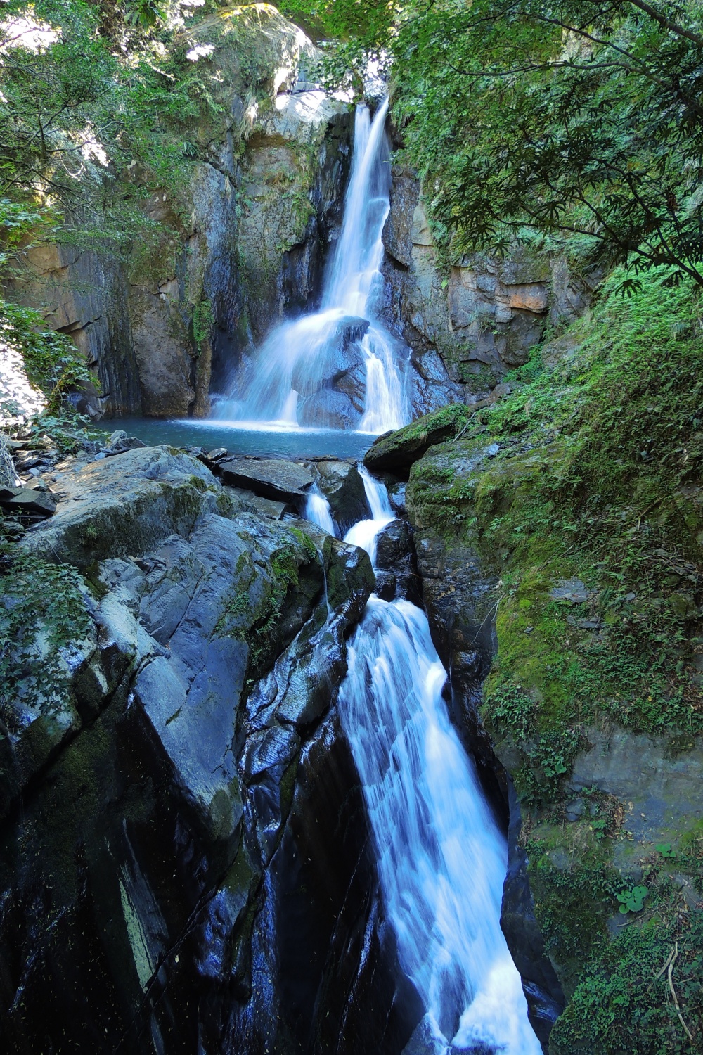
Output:
[[[657,789],[667,857],[628,833],[631,802],[570,783],[594,729],[659,737],[663,771],[687,765],[703,732],[702,305],[665,269],[624,300],[626,276],[416,461],[408,486],[418,529],[497,579],[483,717],[524,804],[538,917],[571,997],[554,1055],[692,1050],[680,1014],[701,1036],[696,802]],[[636,800],[637,757],[623,772]],[[638,883],[647,895],[613,937],[616,895]],[[680,1012],[657,976],[675,946]]]

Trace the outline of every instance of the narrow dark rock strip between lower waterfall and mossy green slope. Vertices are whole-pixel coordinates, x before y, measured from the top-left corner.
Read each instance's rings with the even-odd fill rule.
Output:
[[[389,440],[393,440],[392,435]],[[525,851],[518,842],[520,805],[509,773],[496,757],[480,715],[482,684],[496,649],[497,576],[469,541],[442,531],[426,515],[431,505],[426,505],[423,493],[423,488],[431,490],[432,480],[461,483],[480,472],[493,455],[489,447],[482,448],[475,442],[465,454],[461,444],[455,443],[427,449],[424,459],[412,468],[406,503],[413,526],[423,601],[432,640],[449,671],[450,706],[456,726],[475,759],[487,795],[508,826],[509,861],[501,922],[523,977],[530,1022],[546,1052],[551,1027],[564,1008],[564,994],[534,917]]]

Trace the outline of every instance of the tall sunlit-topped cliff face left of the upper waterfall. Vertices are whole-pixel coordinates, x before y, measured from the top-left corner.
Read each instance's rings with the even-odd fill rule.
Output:
[[[207,415],[211,380],[314,302],[340,224],[353,115],[298,80],[315,51],[305,34],[260,5],[189,32],[213,102],[187,130],[189,176],[161,186],[130,167],[124,196],[149,227],[128,258],[37,246],[7,289],[85,354],[94,417]]]

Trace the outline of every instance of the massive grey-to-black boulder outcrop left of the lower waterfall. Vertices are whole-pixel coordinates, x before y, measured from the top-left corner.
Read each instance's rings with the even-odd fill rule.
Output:
[[[367,555],[165,447],[55,483],[2,569],[7,1051],[401,1051],[333,707]]]

